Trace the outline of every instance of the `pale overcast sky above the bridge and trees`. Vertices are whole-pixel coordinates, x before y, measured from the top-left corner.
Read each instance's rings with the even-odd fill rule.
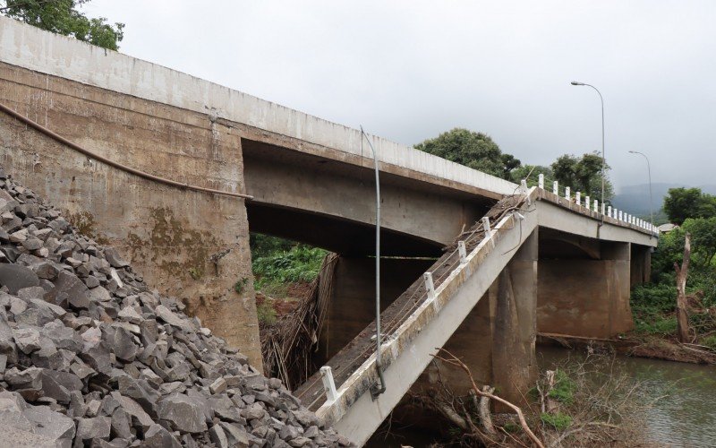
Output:
[[[120,51],[396,142],[453,127],[619,186],[716,184],[716,2],[92,0]]]

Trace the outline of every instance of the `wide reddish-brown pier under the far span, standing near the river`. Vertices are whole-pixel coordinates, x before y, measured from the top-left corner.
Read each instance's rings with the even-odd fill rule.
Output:
[[[541,259],[539,332],[611,338],[634,328],[629,306],[629,243],[601,243],[599,260]]]

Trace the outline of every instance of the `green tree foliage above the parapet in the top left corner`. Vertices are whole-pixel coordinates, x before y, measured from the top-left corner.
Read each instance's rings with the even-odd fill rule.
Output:
[[[78,7],[90,0],[5,0],[0,13],[20,22],[52,31],[98,47],[116,50],[124,38],[124,23],[107,23],[104,17],[90,19]]]

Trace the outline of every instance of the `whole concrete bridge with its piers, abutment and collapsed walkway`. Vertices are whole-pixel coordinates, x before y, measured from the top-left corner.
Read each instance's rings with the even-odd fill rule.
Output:
[[[319,352],[333,367],[337,396],[326,401],[320,374],[297,392],[359,444],[407,388],[430,384],[435,347],[464,356],[483,383],[508,378],[501,385],[515,398],[533,379],[536,332],[629,330],[629,288],[648,277],[656,245],[644,222],[590,210],[572,194],[550,193],[551,185],[525,191],[371,136],[383,254],[392,256],[383,263],[381,295],[393,323],[388,391],[371,401],[374,184],[360,131],[2,17],[0,103],[127,167],[252,196],[158,184],[0,113],[6,171],[64,208],[82,231],[116,246],[150,285],[180,297],[254,364],[260,343],[249,231],[340,254]],[[496,214],[512,194],[519,215]],[[491,237],[474,227],[486,213],[499,218],[490,222]],[[460,235],[471,235],[462,262],[442,251]],[[435,273],[434,294],[425,290],[426,271]],[[242,279],[245,286],[234,288]],[[357,347],[360,357],[351,351]]]

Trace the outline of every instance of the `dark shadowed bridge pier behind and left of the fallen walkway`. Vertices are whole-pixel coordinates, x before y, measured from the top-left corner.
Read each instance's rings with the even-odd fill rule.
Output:
[[[400,297],[431,260],[384,258],[380,260],[382,309]],[[324,364],[375,320],[375,258],[341,256],[333,278],[332,298],[315,362]]]

